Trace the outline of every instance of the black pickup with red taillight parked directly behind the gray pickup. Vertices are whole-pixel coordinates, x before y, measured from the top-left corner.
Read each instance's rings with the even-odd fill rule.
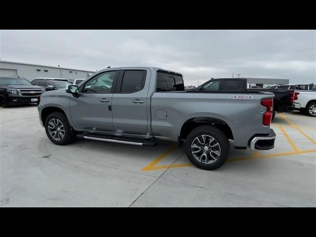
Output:
[[[293,112],[294,105],[293,101],[299,93],[295,94],[292,89],[273,89],[273,88],[247,88],[247,79],[245,78],[220,78],[220,79],[210,79],[205,83],[201,84],[197,90],[202,91],[263,91],[263,92],[273,92],[275,97],[273,99],[274,110],[272,119],[275,118],[276,112]]]

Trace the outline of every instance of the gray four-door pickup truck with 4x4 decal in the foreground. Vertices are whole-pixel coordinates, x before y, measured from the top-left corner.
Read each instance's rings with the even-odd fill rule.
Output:
[[[57,145],[76,137],[132,145],[185,141],[189,160],[210,170],[227,160],[229,139],[235,149],[274,148],[273,98],[271,92],[185,91],[180,73],[124,67],[45,92],[38,109]]]

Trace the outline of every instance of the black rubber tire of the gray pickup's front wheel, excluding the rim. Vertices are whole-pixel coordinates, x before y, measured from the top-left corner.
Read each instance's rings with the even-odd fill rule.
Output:
[[[63,128],[64,128],[63,130],[65,131],[64,137],[60,140],[55,140],[49,134],[49,130],[48,130],[49,121],[51,121],[51,119],[54,119],[54,118],[59,119],[61,121]],[[45,120],[45,131],[46,131],[46,135],[49,138],[49,140],[52,141],[56,145],[67,145],[67,144],[73,142],[76,138],[76,135],[72,131],[71,126],[68,122],[68,119],[61,112],[54,112],[54,113],[47,116],[47,118]]]

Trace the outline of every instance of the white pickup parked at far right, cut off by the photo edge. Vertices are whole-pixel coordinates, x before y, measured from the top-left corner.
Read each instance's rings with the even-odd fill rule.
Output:
[[[299,110],[308,116],[316,117],[316,84],[311,90],[295,90],[300,96],[294,100],[295,110]]]

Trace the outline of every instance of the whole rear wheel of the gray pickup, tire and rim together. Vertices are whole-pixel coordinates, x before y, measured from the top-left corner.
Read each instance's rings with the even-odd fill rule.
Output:
[[[228,158],[228,138],[215,126],[198,126],[186,139],[186,154],[191,163],[200,169],[217,169]]]

